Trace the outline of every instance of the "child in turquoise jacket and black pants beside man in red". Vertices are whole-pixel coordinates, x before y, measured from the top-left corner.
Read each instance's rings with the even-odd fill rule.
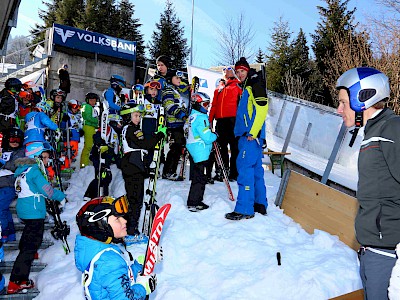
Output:
[[[207,116],[210,97],[198,92],[192,95],[191,101],[192,112],[189,116],[189,136],[186,148],[193,157],[194,168],[187,206],[190,211],[196,212],[208,208],[208,205],[203,203],[207,183],[207,175],[204,171],[208,164],[212,143],[217,136],[211,132]]]

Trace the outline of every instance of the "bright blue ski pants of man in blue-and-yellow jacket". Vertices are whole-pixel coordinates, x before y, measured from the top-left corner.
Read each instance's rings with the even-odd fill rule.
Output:
[[[263,150],[257,140],[248,141],[245,136],[239,138],[238,148],[236,166],[239,193],[235,212],[253,215],[254,203],[263,204],[265,208],[268,206],[262,167]]]

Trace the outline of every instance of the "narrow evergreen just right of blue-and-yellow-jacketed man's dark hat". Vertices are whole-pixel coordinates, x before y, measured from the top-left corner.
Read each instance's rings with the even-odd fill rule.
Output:
[[[272,28],[271,43],[268,47],[267,57],[267,88],[271,91],[283,93],[282,79],[290,66],[290,37],[288,22],[279,18]]]

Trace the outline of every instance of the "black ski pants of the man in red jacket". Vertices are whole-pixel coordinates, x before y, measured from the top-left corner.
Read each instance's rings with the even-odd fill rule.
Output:
[[[238,141],[233,133],[235,121],[235,117],[217,119],[217,124],[215,127],[215,131],[218,134],[217,142],[220,146],[222,161],[224,162],[225,169],[229,169],[229,178],[233,179],[236,179],[238,176],[236,158],[239,154]],[[230,159],[228,145],[231,150]]]

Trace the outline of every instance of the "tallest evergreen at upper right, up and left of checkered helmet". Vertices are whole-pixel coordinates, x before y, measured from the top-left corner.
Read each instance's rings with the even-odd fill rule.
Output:
[[[321,15],[321,22],[318,23],[315,34],[312,34],[312,49],[315,54],[317,68],[324,76],[327,71],[327,61],[334,57],[334,39],[347,40],[349,33],[355,32],[354,12],[356,9],[348,10],[347,5],[350,0],[325,0],[327,7],[317,6]],[[321,93],[325,97],[325,104],[333,105],[333,99],[329,93],[329,87],[324,84],[320,87]]]

